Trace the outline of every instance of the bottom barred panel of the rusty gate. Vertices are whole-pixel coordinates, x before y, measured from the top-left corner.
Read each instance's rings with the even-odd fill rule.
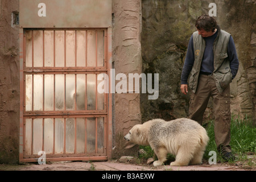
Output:
[[[24,119],[24,158],[36,158],[39,151],[48,157],[106,156],[105,116]]]

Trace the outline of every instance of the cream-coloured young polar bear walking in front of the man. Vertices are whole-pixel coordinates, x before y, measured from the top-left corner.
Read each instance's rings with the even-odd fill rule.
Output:
[[[202,163],[209,137],[196,121],[180,118],[168,122],[152,119],[135,125],[125,139],[143,146],[150,145],[158,157],[154,166],[162,165],[168,153],[176,155],[171,166],[187,166]]]

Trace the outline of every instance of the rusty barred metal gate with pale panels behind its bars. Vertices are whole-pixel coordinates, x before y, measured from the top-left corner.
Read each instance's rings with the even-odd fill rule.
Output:
[[[97,92],[108,36],[108,28],[20,31],[20,161],[40,151],[48,161],[110,157],[109,95]]]

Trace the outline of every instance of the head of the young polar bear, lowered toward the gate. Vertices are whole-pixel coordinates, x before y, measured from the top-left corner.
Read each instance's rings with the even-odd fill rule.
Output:
[[[147,132],[145,132],[142,126],[143,125],[133,126],[129,133],[125,135],[125,140],[135,144],[148,145]]]

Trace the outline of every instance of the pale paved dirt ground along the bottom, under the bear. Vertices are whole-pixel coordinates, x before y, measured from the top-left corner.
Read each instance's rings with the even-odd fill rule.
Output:
[[[251,164],[244,162],[217,163],[210,165],[204,162],[200,165],[174,167],[170,165],[154,167],[152,164],[145,163],[120,163],[118,160],[108,162],[47,162],[39,165],[38,163],[26,164],[0,164],[1,171],[256,171],[253,156]]]

